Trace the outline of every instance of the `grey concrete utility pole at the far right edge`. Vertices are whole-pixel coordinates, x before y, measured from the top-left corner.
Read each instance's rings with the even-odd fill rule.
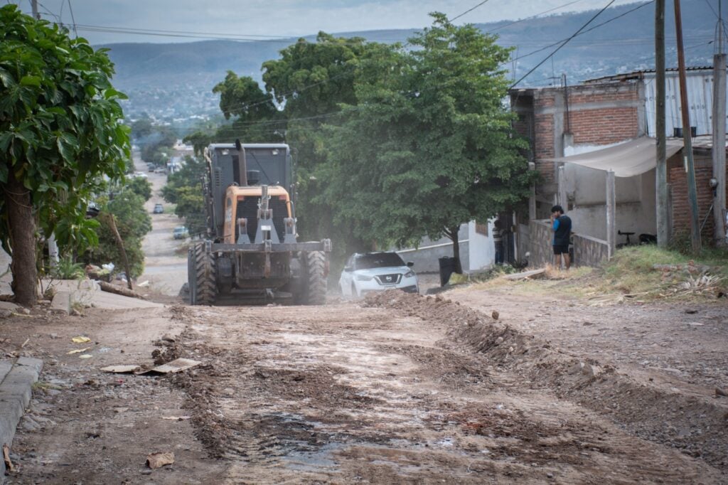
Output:
[[[713,55],[713,235],[716,245],[726,240],[726,55],[723,53],[723,10],[718,2],[718,52]],[[711,184],[712,185],[712,184]]]

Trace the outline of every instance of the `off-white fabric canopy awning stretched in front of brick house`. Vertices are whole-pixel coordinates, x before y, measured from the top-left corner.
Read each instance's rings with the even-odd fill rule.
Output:
[[[665,146],[667,158],[672,157],[682,147],[682,141],[668,140]],[[575,163],[595,170],[612,170],[616,177],[633,177],[657,166],[657,140],[645,136],[606,149],[547,160]]]

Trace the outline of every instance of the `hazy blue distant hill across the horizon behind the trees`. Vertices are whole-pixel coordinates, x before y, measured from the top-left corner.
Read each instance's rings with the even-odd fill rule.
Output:
[[[630,10],[635,9],[633,12]],[[689,66],[709,66],[713,55],[713,31],[716,15],[705,0],[684,0],[683,35]],[[520,79],[544,59],[559,42],[593,17],[589,12],[550,15],[523,21],[476,24],[482,31],[496,33],[499,43],[513,46],[508,66],[510,77]],[[575,37],[548,60],[522,85],[540,86],[566,73],[569,83],[618,72],[654,67],[654,4],[621,5],[607,9],[585,30],[607,20],[612,22]],[[672,8],[665,18],[667,64],[676,66],[674,20]],[[361,36],[371,42],[405,42],[419,29],[336,33],[337,36]],[[314,33],[307,39],[313,40]],[[114,84],[130,96],[124,110],[129,117],[142,111],[167,119],[193,115],[218,114],[218,99],[211,92],[226,71],[261,79],[261,64],[278,57],[278,51],[296,39],[263,42],[215,40],[174,44],[107,44],[116,65]],[[558,44],[557,44],[558,45]],[[529,53],[541,50],[534,54]]]

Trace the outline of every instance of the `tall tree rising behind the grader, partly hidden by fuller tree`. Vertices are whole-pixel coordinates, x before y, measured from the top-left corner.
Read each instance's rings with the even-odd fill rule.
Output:
[[[317,199],[323,184],[316,170],[328,153],[322,127],[336,122],[342,105],[357,104],[355,83],[362,63],[391,49],[362,37],[320,32],[316,42],[298,39],[280,51],[279,59],[263,63],[266,90],[285,106],[285,141],[294,148],[296,159],[298,230],[306,238],[349,238],[347,229],[331,225],[331,207]]]

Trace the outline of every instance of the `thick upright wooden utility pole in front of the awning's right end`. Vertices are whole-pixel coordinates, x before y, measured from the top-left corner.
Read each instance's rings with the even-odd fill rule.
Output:
[[[657,137],[657,167],[654,184],[657,202],[657,245],[665,248],[670,242],[668,208],[668,162],[665,154],[665,0],[654,2],[654,83],[657,106],[655,136]]]

